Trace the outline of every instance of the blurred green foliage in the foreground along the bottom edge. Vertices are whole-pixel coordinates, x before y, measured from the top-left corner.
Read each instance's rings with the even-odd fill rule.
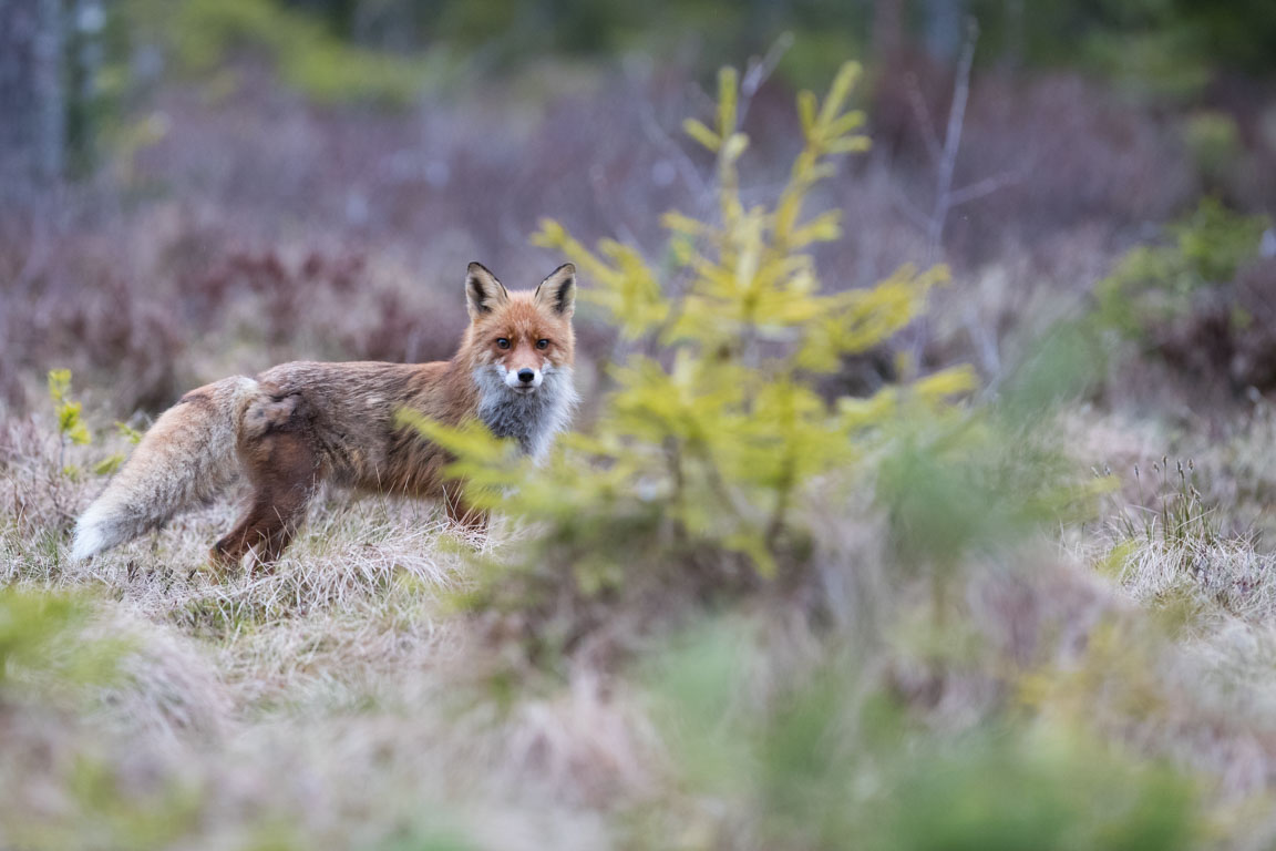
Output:
[[[935,730],[863,674],[859,651],[758,702],[748,648],[718,626],[649,666],[683,799],[642,809],[629,847],[744,833],[773,848],[1151,851],[1196,847],[1206,829],[1187,778],[1081,726]]]

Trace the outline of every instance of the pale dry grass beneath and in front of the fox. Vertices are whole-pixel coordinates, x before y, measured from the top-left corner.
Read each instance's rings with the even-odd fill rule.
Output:
[[[0,526],[0,584],[88,593],[98,614],[87,639],[128,648],[87,714],[14,716],[6,740],[68,754],[14,755],[0,771],[5,785],[26,778],[14,806],[42,783],[65,797],[73,754],[96,741],[112,795],[145,808],[126,777],[138,773],[198,799],[190,823],[176,808],[170,825],[184,847],[242,847],[278,823],[297,847],[369,847],[450,824],[478,847],[584,848],[600,847],[597,808],[652,782],[655,734],[600,672],[509,709],[486,699],[490,661],[449,595],[476,545],[517,545],[508,524],[463,540],[430,504],[334,494],[272,570],[223,578],[202,568],[234,519],[227,499],[70,564],[68,518],[101,480],[57,475],[51,421],[5,426],[0,504],[20,509]],[[34,820],[89,829],[75,808],[64,800]]]

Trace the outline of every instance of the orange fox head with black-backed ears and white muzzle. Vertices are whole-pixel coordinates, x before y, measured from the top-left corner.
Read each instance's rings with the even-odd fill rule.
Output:
[[[572,314],[575,267],[564,263],[532,291],[510,292],[491,272],[471,263],[466,274],[470,329],[464,350],[484,385],[532,396],[555,373],[569,373],[575,356]]]

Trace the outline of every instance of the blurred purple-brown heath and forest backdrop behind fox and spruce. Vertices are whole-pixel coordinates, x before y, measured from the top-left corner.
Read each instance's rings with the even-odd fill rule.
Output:
[[[1087,290],[1203,195],[1254,213],[1276,194],[1276,13],[1257,0],[48,0],[4,15],[13,402],[50,364],[122,369],[125,416],[208,370],[256,371],[260,346],[444,357],[456,269],[540,268],[542,216],[658,254],[660,213],[698,211],[712,179],[679,125],[720,65],[750,56],[759,191],[794,149],[791,93],[868,63],[873,151],[822,190],[851,225],[820,254],[835,288],[944,260],[979,278],[966,310],[1014,310]],[[994,281],[1012,269],[1013,286]],[[984,292],[998,286],[1013,292]],[[308,310],[324,293],[341,320]],[[283,327],[264,322],[279,310],[234,315],[254,297]],[[967,324],[952,333],[997,370],[1007,318]],[[207,334],[222,353],[200,367]],[[227,364],[245,336],[251,362]]]

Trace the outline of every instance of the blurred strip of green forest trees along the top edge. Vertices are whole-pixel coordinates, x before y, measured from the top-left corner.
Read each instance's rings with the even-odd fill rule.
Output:
[[[1263,0],[951,1],[956,10],[942,18],[940,4],[902,3],[902,34],[942,51],[939,60],[956,52],[970,15],[980,26],[981,61],[1081,64],[1152,94],[1193,94],[1216,69],[1262,71],[1276,63],[1276,8]],[[171,47],[190,71],[213,71],[236,51],[253,50],[316,100],[402,105],[431,78],[422,51],[463,59],[475,74],[551,56],[628,54],[707,71],[760,55],[786,32],[796,41],[780,74],[805,85],[827,79],[845,56],[870,52],[878,6],[875,0],[126,0],[121,9],[126,28]]]

